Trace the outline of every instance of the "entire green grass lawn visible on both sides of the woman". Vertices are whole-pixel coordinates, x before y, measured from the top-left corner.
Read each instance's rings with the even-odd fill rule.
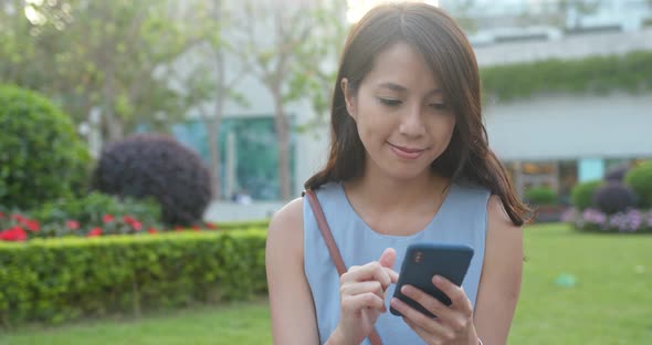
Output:
[[[523,290],[509,344],[652,344],[652,236],[525,230]],[[575,285],[557,285],[559,275]],[[23,327],[0,344],[271,344],[265,302],[139,320]]]

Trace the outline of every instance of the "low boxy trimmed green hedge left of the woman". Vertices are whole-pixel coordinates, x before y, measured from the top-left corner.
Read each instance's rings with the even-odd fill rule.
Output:
[[[0,242],[0,325],[57,324],[266,291],[266,231]]]

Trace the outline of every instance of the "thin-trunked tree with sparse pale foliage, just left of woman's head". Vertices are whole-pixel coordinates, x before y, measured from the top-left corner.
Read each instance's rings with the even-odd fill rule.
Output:
[[[336,28],[338,34],[343,15],[334,15],[326,20],[325,13],[332,10],[346,9],[327,0],[292,1],[292,0],[248,0],[242,10],[241,23],[236,40],[241,49],[239,55],[250,67],[251,73],[264,85],[272,95],[274,103],[274,124],[278,140],[278,178],[281,197],[291,197],[290,174],[290,119],[286,105],[291,102],[309,97],[313,94],[313,107],[324,113],[324,88],[333,86],[330,72],[322,74],[324,58],[319,52],[332,50],[333,40],[326,40],[322,48],[316,38],[329,32],[328,25]],[[313,38],[313,33],[316,36]],[[339,43],[341,44],[341,43]],[[309,66],[309,67],[307,67]],[[318,82],[322,79],[324,82]],[[328,83],[326,82],[328,81]],[[324,86],[326,87],[326,86]]]

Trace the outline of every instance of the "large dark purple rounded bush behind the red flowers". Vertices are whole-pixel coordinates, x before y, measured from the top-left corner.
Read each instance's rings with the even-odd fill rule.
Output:
[[[153,197],[169,226],[200,222],[211,200],[210,172],[200,157],[156,134],[134,135],[106,147],[93,188],[119,197]]]

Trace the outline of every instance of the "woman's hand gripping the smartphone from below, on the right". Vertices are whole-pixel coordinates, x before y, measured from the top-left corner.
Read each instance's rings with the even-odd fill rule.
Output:
[[[450,306],[411,285],[404,285],[401,292],[437,315],[435,318],[427,316],[398,299],[391,300],[391,306],[403,315],[403,321],[427,344],[477,345],[473,306],[464,290],[439,275],[435,275],[432,282],[451,299]]]

